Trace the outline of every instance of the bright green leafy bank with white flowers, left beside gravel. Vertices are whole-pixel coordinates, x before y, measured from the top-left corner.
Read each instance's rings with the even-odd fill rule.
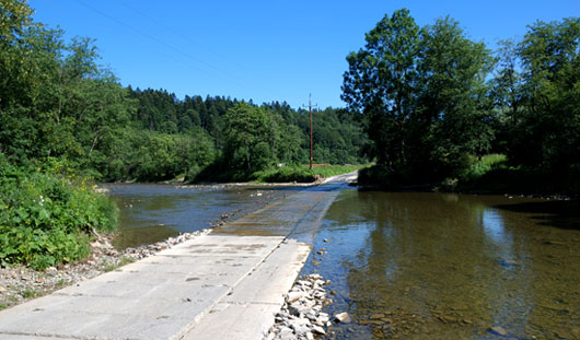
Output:
[[[13,166],[0,153],[0,263],[45,269],[89,256],[93,228],[117,227],[117,207],[55,166]]]

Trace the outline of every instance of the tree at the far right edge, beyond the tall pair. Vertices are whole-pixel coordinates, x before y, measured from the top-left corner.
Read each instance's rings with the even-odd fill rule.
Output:
[[[536,22],[518,45],[524,84],[509,156],[546,172],[580,172],[580,19]]]

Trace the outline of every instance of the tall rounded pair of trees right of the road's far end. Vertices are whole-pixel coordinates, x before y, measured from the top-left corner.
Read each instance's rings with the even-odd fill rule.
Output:
[[[370,155],[409,180],[454,175],[482,154],[488,125],[492,58],[445,17],[419,28],[408,10],[385,16],[347,57],[343,99],[363,117]]]

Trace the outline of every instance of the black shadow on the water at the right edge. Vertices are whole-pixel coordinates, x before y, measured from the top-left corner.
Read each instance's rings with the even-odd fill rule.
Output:
[[[565,230],[580,230],[580,201],[541,201],[498,204],[494,208],[530,214],[538,225]]]

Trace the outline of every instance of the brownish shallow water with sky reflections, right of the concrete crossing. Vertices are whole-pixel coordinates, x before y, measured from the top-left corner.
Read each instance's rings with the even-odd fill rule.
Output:
[[[344,191],[316,238],[328,254],[305,268],[333,281],[328,312],[355,318],[335,336],[496,339],[490,328],[501,327],[512,339],[578,337],[579,233],[497,208],[521,203]]]

